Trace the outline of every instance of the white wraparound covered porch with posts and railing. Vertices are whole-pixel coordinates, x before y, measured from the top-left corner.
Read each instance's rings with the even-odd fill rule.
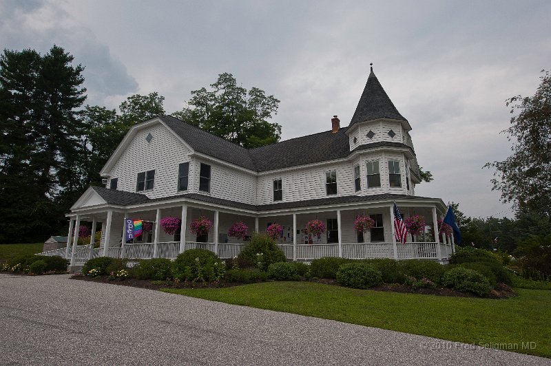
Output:
[[[418,197],[415,197],[418,198]],[[350,259],[393,258],[424,259],[446,263],[454,252],[453,236],[444,233],[433,234],[431,227],[437,227],[437,219],[445,214],[446,206],[441,200],[412,200],[405,197],[396,200],[402,215],[422,215],[426,220],[424,233],[408,235],[405,244],[397,243],[394,233],[393,202],[335,203],[315,206],[284,207],[259,210],[258,206],[232,207],[227,202],[205,202],[197,198],[181,197],[171,202],[148,202],[134,206],[121,206],[105,202],[101,205],[73,208],[69,217],[67,247],[42,255],[60,255],[70,259],[71,266],[79,266],[95,257],[124,259],[175,259],[185,250],[202,248],[211,250],[221,259],[238,255],[246,240],[228,235],[235,222],[243,222],[252,232],[265,232],[272,223],[282,225],[283,234],[278,246],[285,256],[293,261],[311,261],[321,257],[344,257]],[[268,207],[265,207],[268,208]],[[375,226],[365,233],[357,233],[353,227],[357,215],[371,217]],[[160,227],[164,217],[176,217],[180,226],[174,233],[166,233]],[[212,222],[207,235],[194,235],[189,231],[191,221],[207,217]],[[149,222],[151,228],[144,230],[141,237],[125,242],[125,219],[141,219]],[[323,235],[309,235],[304,230],[306,223],[319,219],[326,224]],[[101,239],[98,244],[94,235],[90,242],[79,245],[79,226],[88,222],[92,233],[101,225]],[[77,230],[74,230],[77,228]],[[247,237],[245,238],[247,239]]]

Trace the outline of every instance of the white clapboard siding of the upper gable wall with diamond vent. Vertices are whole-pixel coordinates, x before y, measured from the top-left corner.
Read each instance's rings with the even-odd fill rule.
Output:
[[[153,139],[145,138],[151,133]],[[163,125],[153,125],[136,133],[110,171],[118,178],[120,191],[136,192],[138,173],[155,170],[154,189],[141,191],[150,198],[166,197],[178,193],[178,165],[189,161],[189,149]]]

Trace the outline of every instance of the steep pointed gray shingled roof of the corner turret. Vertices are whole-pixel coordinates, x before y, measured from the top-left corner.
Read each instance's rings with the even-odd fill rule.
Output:
[[[377,76],[373,73],[373,67],[371,67],[366,87],[360,97],[360,101],[357,103],[356,111],[352,116],[349,127],[358,122],[376,120],[377,118],[406,120],[394,107],[391,98],[388,98]]]

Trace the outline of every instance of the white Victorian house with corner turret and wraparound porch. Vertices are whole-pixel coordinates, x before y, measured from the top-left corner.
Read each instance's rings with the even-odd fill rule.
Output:
[[[409,236],[406,244],[396,243],[394,202],[404,217],[423,215],[431,225],[446,205],[439,198],[415,195],[421,179],[411,127],[373,68],[350,124],[341,127],[337,116],[331,124],[329,131],[245,149],[171,116],[138,123],[101,170],[105,187],[91,186],[72,206],[67,248],[58,251],[72,265],[102,255],[172,259],[190,248],[228,258],[245,245],[227,235],[233,223],[242,221],[249,233],[281,224],[280,248],[293,260],[445,261],[453,244],[444,235],[422,242]],[[365,235],[353,228],[357,215],[375,221]],[[174,235],[160,228],[160,219],[167,216],[181,219]],[[198,237],[189,224],[200,216],[214,224],[208,235]],[[152,222],[152,230],[123,243],[125,218]],[[324,235],[304,233],[311,219],[326,224]],[[72,232],[82,222],[92,222],[92,233],[101,223],[99,248],[93,248],[93,235],[90,246],[77,246],[79,230]]]

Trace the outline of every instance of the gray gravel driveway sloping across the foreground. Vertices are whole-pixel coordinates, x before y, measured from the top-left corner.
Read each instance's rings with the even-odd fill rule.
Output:
[[[68,275],[0,274],[0,365],[551,365]]]

